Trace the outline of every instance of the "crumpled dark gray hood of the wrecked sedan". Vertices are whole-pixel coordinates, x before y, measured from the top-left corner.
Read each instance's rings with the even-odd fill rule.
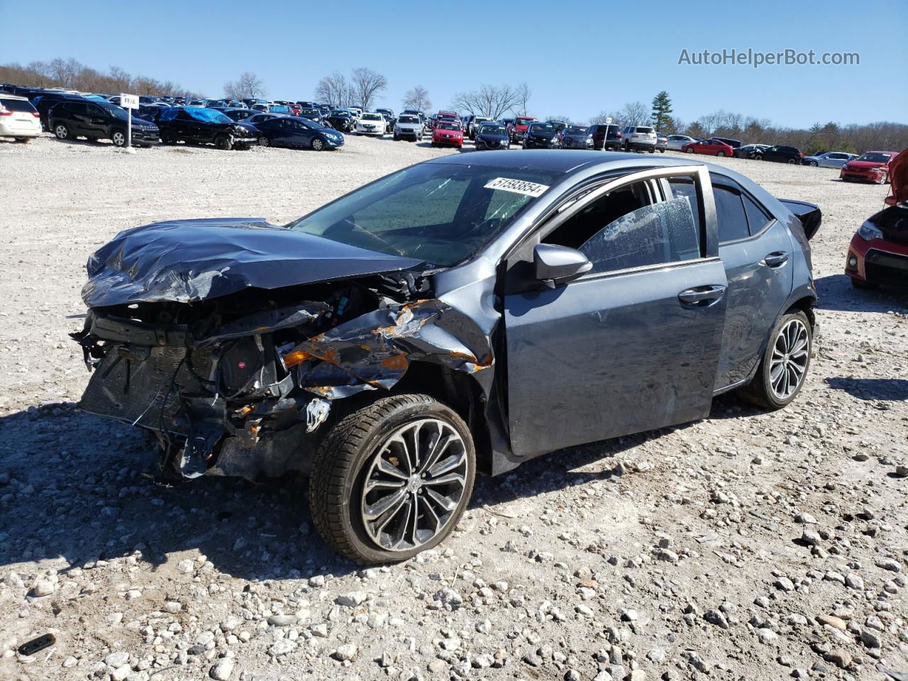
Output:
[[[88,307],[190,302],[242,291],[414,268],[423,261],[367,251],[262,218],[153,222],[120,232],[88,259]]]

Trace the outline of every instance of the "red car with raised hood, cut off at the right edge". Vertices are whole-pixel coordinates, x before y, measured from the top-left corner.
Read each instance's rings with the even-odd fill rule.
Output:
[[[877,152],[878,153],[878,152]],[[880,284],[908,286],[908,156],[890,165],[893,195],[888,208],[861,225],[848,245],[845,274],[855,288],[875,289]]]

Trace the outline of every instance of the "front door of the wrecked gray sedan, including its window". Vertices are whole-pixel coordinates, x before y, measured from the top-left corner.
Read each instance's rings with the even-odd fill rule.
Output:
[[[667,197],[664,177],[687,178],[694,201]],[[725,322],[712,202],[702,166],[631,173],[564,206],[508,258],[516,455],[706,417]],[[539,285],[527,276],[536,242],[577,248],[593,269]]]

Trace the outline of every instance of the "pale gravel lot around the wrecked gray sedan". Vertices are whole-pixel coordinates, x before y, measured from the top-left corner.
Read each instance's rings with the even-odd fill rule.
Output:
[[[854,291],[885,188],[724,160],[818,203],[820,351],[789,408],[480,479],[459,531],[362,570],[298,481],[161,488],[149,443],[73,408],[88,254],[181,217],[286,221],[442,152],[0,142],[0,678],[884,679],[908,673],[908,299]],[[15,647],[51,632],[55,646]],[[905,678],[898,676],[897,678]]]

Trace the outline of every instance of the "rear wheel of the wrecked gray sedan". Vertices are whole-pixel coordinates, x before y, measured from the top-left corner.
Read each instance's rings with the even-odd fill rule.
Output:
[[[766,410],[785,407],[804,387],[813,347],[807,315],[803,311],[782,315],[769,337],[754,380],[740,390],[741,397]]]

